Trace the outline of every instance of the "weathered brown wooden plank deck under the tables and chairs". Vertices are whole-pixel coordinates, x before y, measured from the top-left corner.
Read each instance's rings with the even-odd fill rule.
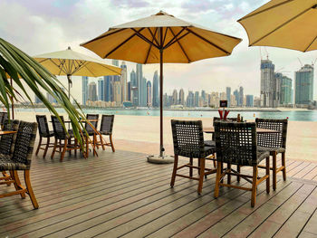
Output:
[[[288,160],[287,181],[278,176],[270,195],[262,184],[251,208],[251,193],[238,189],[222,187],[214,199],[215,175],[197,195],[197,181],[177,177],[169,187],[172,165],[109,148],[99,154],[34,157],[40,208],[18,195],[0,199],[0,237],[317,237],[317,164]]]

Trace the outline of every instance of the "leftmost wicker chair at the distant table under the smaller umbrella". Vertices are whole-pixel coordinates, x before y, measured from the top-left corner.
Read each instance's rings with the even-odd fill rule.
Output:
[[[53,138],[54,132],[48,127],[47,119],[45,115],[36,115],[36,121],[39,128],[40,141],[37,146],[35,155],[39,153],[40,149],[44,150],[43,157],[46,157],[48,148],[53,148],[54,143],[50,143],[50,138]],[[46,138],[46,143],[42,143],[42,139]],[[45,146],[42,148],[42,146]]]

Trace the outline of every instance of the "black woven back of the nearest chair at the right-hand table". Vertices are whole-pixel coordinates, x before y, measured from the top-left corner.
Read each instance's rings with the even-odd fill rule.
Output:
[[[216,159],[241,166],[257,165],[255,122],[215,122]]]

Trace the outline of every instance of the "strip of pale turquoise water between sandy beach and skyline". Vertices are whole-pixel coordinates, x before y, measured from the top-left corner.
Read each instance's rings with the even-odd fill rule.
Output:
[[[47,112],[47,109],[16,109],[17,111]],[[63,112],[63,109],[57,109]],[[83,109],[85,113],[133,115],[133,116],[159,116],[158,109]],[[228,117],[236,117],[240,113],[244,119],[290,119],[294,121],[317,121],[317,110],[287,110],[287,111],[232,111]],[[219,117],[217,111],[188,111],[164,110],[165,117],[178,118],[213,118]]]

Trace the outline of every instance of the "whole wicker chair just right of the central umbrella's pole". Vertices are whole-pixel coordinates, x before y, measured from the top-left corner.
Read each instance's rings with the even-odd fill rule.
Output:
[[[175,184],[176,176],[199,181],[197,192],[201,194],[204,176],[216,173],[216,169],[205,167],[206,157],[215,153],[215,147],[204,145],[204,133],[201,120],[171,120],[174,144],[174,169],[170,186]],[[189,163],[178,167],[178,157],[189,157]],[[193,158],[198,159],[198,166],[193,165]],[[178,174],[178,169],[189,167],[189,176]],[[193,176],[193,168],[198,169],[199,177]]]

